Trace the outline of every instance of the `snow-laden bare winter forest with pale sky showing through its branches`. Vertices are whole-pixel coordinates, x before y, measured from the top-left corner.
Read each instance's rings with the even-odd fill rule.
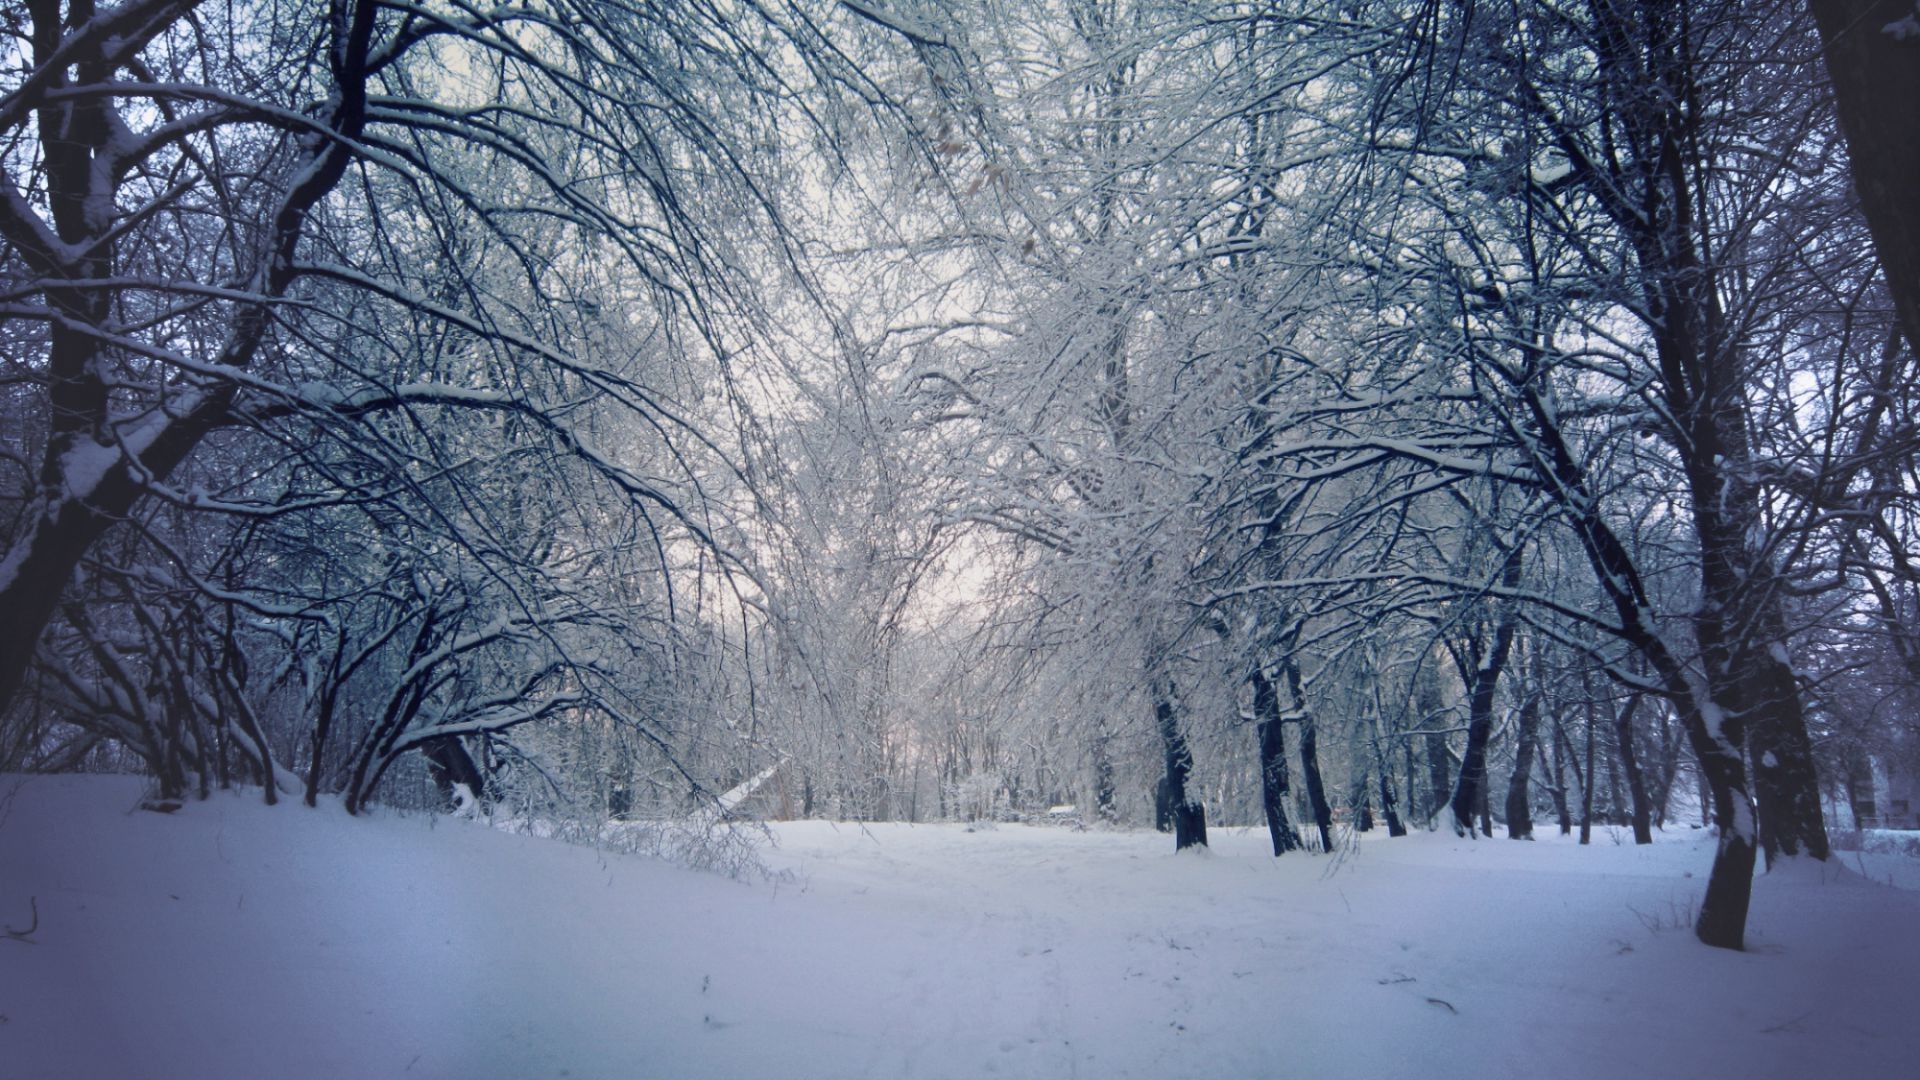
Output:
[[[0,12],[4,774],[1684,840],[1680,980],[1920,824],[1908,0]]]

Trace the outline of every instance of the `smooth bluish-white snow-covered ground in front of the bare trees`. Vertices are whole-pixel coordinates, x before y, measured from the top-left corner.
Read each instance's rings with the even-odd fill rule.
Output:
[[[1920,865],[1684,922],[1709,838],[776,828],[735,882],[480,824],[0,778],[6,1078],[1912,1076]],[[1891,882],[1891,884],[1889,884]]]

